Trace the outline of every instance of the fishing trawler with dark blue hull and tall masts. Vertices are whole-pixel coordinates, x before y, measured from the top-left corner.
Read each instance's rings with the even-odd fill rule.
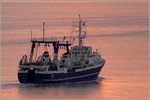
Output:
[[[105,64],[105,59],[101,58],[98,51],[92,51],[92,47],[84,46],[83,39],[86,38],[86,21],[79,17],[77,24],[78,45],[72,46],[70,41],[58,41],[53,38],[46,39],[45,23],[43,23],[43,38],[31,39],[31,51],[29,57],[24,55],[19,62],[18,80],[20,83],[70,83],[92,81],[98,75]],[[38,47],[44,45],[52,46],[54,53],[50,57],[48,49],[33,59],[37,54]],[[71,47],[72,46],[72,47]],[[60,48],[65,48],[65,53],[58,58]]]

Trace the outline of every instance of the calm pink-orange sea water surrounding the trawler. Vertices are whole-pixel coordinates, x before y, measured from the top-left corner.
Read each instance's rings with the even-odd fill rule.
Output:
[[[71,35],[78,14],[88,21],[84,44],[106,59],[95,82],[55,85],[19,84],[18,62],[30,51],[33,37]],[[60,20],[61,19],[61,20]],[[76,35],[76,34],[72,34]],[[2,3],[2,100],[147,100],[148,4]]]

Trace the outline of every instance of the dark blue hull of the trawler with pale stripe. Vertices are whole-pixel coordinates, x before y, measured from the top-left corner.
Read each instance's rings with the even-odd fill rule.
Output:
[[[20,83],[71,83],[96,80],[103,65],[96,68],[67,73],[18,72]]]

